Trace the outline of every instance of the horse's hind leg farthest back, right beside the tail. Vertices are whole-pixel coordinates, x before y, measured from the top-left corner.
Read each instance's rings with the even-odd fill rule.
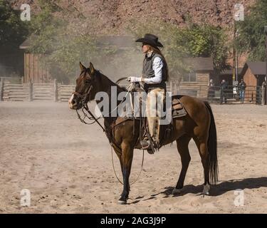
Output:
[[[194,138],[197,148],[199,149],[199,155],[201,157],[202,166],[204,168],[204,188],[203,195],[209,195],[209,161],[208,161],[208,147],[207,140],[199,140]]]

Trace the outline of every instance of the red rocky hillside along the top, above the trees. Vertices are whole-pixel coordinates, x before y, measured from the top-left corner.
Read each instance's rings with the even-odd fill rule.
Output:
[[[38,1],[11,0],[11,2],[16,9],[26,3],[32,6],[33,13],[40,10]],[[239,1],[244,4],[245,16],[248,6],[254,2],[255,0]],[[183,26],[188,14],[194,22],[231,26],[234,21],[234,4],[236,0],[61,0],[58,3],[65,9],[63,16],[74,22],[83,14],[87,21],[83,26],[90,27],[99,34],[122,34],[131,19],[145,23],[153,17]],[[68,12],[72,12],[74,18],[73,15],[70,17]]]

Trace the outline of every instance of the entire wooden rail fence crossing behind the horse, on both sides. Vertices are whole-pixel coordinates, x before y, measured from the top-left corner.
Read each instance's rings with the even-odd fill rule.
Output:
[[[0,101],[15,100],[15,101],[59,101],[66,102],[75,90],[75,85],[62,85],[55,80],[53,83],[14,83],[5,81],[1,78],[0,81]],[[171,81],[167,85],[167,90],[172,91],[172,94],[190,95],[192,97],[209,100],[210,102],[221,102],[222,95],[226,94],[228,102],[240,102],[239,94],[234,95],[234,86],[229,86],[224,94],[221,93],[221,88],[214,87],[214,92],[209,94],[207,86],[184,86],[180,85],[178,81]],[[264,104],[265,88],[259,86],[247,86],[245,91],[246,103]]]

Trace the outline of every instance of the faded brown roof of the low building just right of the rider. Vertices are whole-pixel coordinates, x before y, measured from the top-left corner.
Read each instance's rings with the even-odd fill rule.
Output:
[[[194,71],[214,71],[213,60],[211,57],[187,58],[185,63],[192,66]]]

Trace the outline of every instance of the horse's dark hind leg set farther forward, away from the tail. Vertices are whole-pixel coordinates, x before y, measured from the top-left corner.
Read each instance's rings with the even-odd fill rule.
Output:
[[[187,169],[189,166],[189,162],[191,160],[191,157],[189,155],[189,149],[188,149],[188,144],[190,140],[191,140],[191,137],[189,135],[182,135],[182,137],[176,140],[177,149],[181,156],[182,170],[180,172],[177,185],[174,188],[174,190],[172,190],[172,195],[180,193],[182,191],[182,188],[184,187],[185,175],[187,174]]]

